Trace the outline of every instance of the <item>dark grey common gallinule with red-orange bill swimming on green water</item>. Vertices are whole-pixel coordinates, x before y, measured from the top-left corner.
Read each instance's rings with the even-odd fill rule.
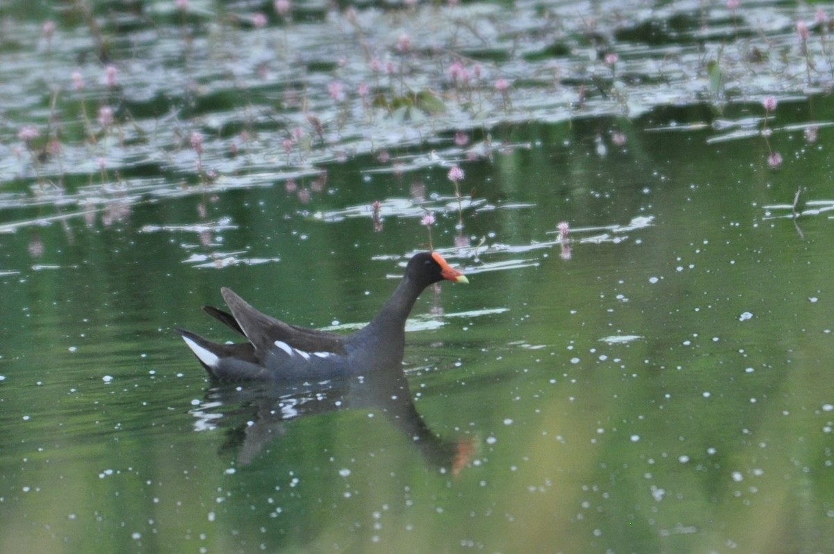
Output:
[[[394,294],[368,325],[350,335],[307,329],[255,310],[232,290],[220,290],[231,314],[203,306],[209,315],[244,335],[249,342],[220,345],[178,329],[203,367],[215,379],[308,379],[357,375],[403,360],[405,320],[414,301],[441,280],[468,283],[437,252],[414,254]]]

